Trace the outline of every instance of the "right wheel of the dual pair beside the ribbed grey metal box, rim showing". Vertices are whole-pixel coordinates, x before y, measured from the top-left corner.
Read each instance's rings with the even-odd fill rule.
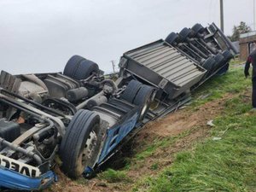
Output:
[[[141,89],[137,92],[137,96],[135,97],[133,103],[141,108],[139,120],[143,120],[148,112],[153,90],[154,89],[152,87],[143,84]]]

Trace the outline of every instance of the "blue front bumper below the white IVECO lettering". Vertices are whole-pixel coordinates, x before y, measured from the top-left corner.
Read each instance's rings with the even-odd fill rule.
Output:
[[[18,172],[0,167],[0,187],[16,190],[40,190],[55,182],[54,172],[46,172],[40,177],[26,177]]]

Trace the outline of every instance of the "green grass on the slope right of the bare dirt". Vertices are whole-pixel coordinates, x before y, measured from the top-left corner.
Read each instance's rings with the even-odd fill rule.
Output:
[[[250,86],[241,68],[204,85],[195,95],[210,92],[211,96],[193,102],[191,108],[234,94],[214,119],[211,137],[178,153],[172,166],[143,178],[133,191],[256,191],[256,113],[250,112],[250,98],[245,95]]]

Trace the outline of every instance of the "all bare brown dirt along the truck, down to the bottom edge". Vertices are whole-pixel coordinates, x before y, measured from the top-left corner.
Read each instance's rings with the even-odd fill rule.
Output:
[[[145,175],[154,175],[160,172],[162,168],[171,165],[174,155],[177,152],[191,148],[193,143],[207,137],[211,128],[207,125],[207,121],[220,115],[223,111],[222,109],[224,109],[224,103],[233,96],[227,94],[221,99],[207,102],[198,108],[183,108],[177,110],[176,113],[168,114],[164,118],[157,119],[145,125],[143,131],[131,143],[132,150],[137,153],[142,152],[148,143],[154,143],[156,138],[176,137],[184,131],[189,131],[189,135],[178,139],[170,148],[157,149],[154,154],[143,160],[143,162],[134,162],[138,166],[131,165],[131,170],[127,173],[128,177],[131,177],[136,182],[137,179]],[[121,158],[124,158],[124,156]],[[156,163],[158,166],[152,169],[152,166]],[[129,190],[132,185],[132,183],[107,183],[98,178],[91,179],[90,181],[80,179],[83,181],[79,183],[78,181],[73,181],[65,177],[59,170],[56,170],[56,172],[60,177],[59,182],[55,183],[48,191],[118,192]]]

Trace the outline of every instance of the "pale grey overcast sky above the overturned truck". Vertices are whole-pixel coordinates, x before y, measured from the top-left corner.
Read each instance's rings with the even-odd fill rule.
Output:
[[[253,28],[253,0],[224,0],[224,32]],[[127,50],[195,23],[219,26],[219,0],[0,0],[0,69],[61,72],[72,55],[111,71]]]

